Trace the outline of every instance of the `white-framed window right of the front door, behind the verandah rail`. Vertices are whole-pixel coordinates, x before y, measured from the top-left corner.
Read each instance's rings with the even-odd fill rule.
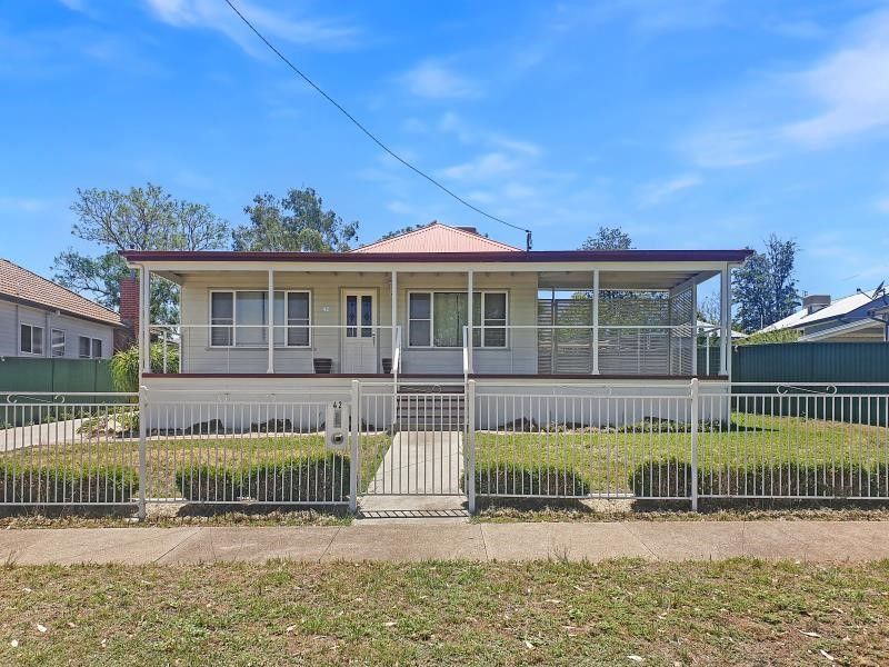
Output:
[[[467,313],[466,292],[411,292],[408,297],[408,345],[462,347]],[[472,346],[507,346],[505,291],[473,292]]]

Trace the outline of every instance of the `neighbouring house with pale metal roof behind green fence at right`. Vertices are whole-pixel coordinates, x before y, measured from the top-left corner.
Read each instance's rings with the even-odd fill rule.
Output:
[[[857,292],[831,301],[828,295],[809,295],[793,315],[762,331],[796,329],[799,342],[889,341],[889,296],[886,289]]]

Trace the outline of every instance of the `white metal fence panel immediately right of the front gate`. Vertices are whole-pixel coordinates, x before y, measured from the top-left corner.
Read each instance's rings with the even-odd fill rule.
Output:
[[[645,480],[667,460],[677,472],[659,481],[658,497],[686,497],[679,478],[679,461],[691,451],[686,385],[553,387],[546,394],[478,387],[471,427],[479,496],[651,497]]]

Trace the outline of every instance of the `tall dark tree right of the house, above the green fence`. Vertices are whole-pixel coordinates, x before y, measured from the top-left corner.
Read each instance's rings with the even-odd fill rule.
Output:
[[[799,306],[793,277],[797,242],[771,235],[763,252],[755,252],[735,271],[732,299],[738,303],[737,326],[757,331],[791,315]]]

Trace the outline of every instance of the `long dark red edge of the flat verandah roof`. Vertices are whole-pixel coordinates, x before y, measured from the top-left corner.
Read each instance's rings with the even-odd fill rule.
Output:
[[[752,250],[515,250],[499,252],[240,252],[234,250],[124,250],[129,261],[294,261],[294,262],[552,262],[567,261],[727,261],[741,262]]]

